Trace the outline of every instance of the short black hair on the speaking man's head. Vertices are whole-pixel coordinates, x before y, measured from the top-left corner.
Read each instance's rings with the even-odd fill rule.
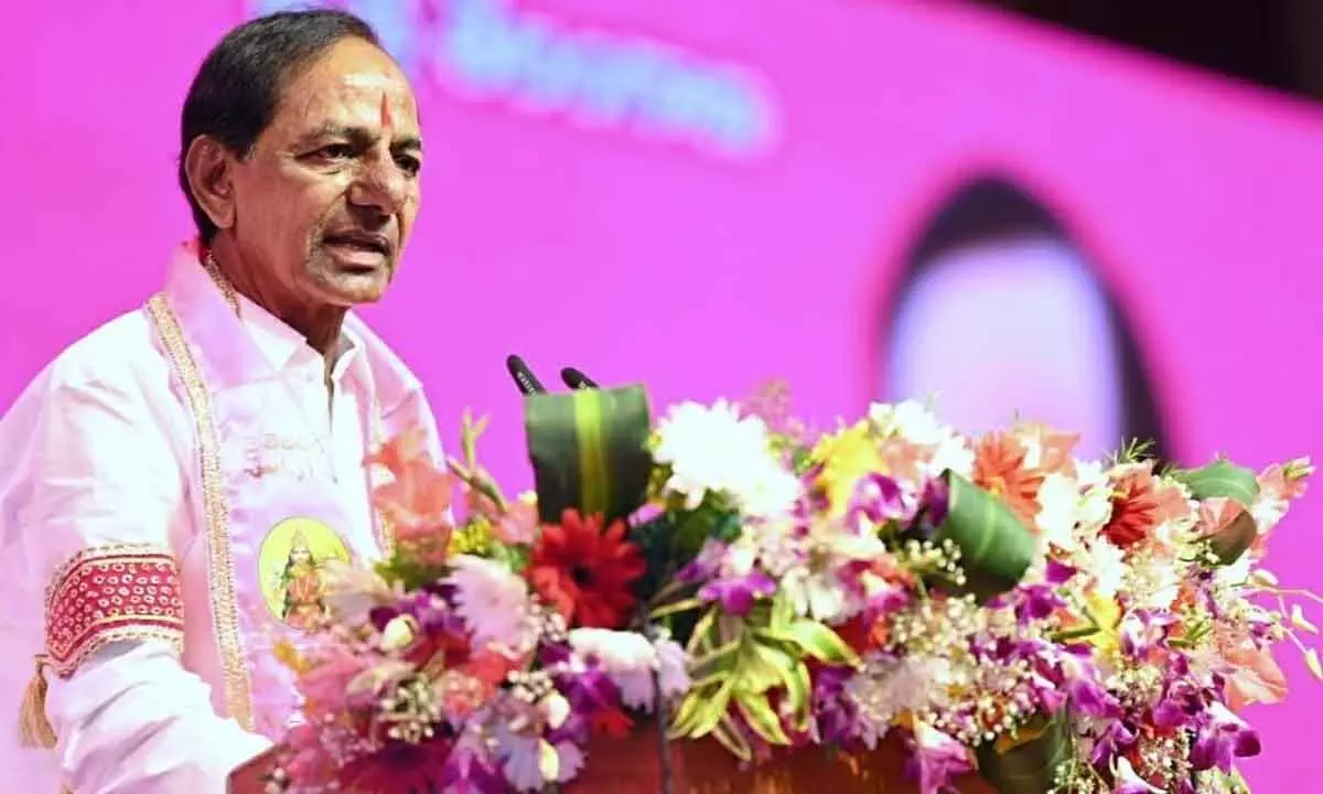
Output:
[[[343,11],[284,11],[247,21],[217,44],[193,77],[180,119],[179,185],[204,245],[216,224],[188,184],[188,147],[198,135],[247,156],[275,118],[280,93],[295,73],[345,38],[381,46],[372,25]]]

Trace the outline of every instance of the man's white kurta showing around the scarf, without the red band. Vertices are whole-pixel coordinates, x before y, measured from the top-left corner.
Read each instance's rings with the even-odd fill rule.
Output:
[[[283,398],[292,397],[321,435],[316,454],[329,466],[348,517],[344,544],[353,556],[376,557],[363,470],[373,377],[361,340],[347,324],[328,400],[324,361],[299,333],[246,300],[239,316],[271,368],[287,376],[292,393]],[[79,552],[168,549],[185,605],[206,602],[196,417],[172,385],[155,335],[146,312],[103,326],[61,355],[0,421],[0,713],[16,713],[33,656],[45,647],[40,593]],[[239,596],[253,603],[253,594]],[[184,646],[194,647],[194,635],[210,639],[205,609],[185,609],[179,622],[183,638],[168,622],[159,625],[159,639],[148,631],[111,634],[67,678],[48,675],[46,713],[60,737],[64,785],[78,794],[220,793],[234,766],[270,745],[221,716],[214,659],[192,664],[181,655]],[[12,790],[53,791],[49,753],[22,754],[4,773],[20,775],[9,779],[21,783]]]

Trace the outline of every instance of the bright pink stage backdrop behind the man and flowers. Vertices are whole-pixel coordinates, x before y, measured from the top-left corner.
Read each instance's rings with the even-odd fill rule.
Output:
[[[897,339],[890,315],[916,246],[983,175],[1060,221],[1085,275],[1043,294],[1088,314],[1101,304],[1076,287],[1103,287],[1114,311],[1098,314],[1080,343],[1093,352],[1080,355],[1102,367],[1098,390],[1121,394],[1121,368],[1095,343],[1129,340],[1146,373],[1131,380],[1177,457],[1261,464],[1323,439],[1323,119],[1311,110],[935,1],[347,5],[415,77],[429,148],[417,237],[366,314],[451,433],[466,408],[492,416],[484,451],[507,478],[529,480],[509,352],[544,380],[562,365],[646,380],[658,404],[740,397],[781,377],[819,421],[894,390],[897,361],[945,361],[942,339]],[[175,185],[188,81],[228,26],[263,7],[7,11],[0,405],[157,286],[189,233]],[[947,302],[933,310],[955,318],[947,341],[1011,337],[992,369],[1009,377],[975,381],[998,405],[1021,369],[1008,328],[1033,356],[1077,359],[1040,344],[1070,311],[1027,327],[1015,324],[1023,311],[954,311],[960,295],[1005,283],[974,273],[938,290]],[[1074,381],[1088,386],[1089,369]],[[1121,402],[1101,400],[1103,412]],[[1073,404],[1033,408],[1072,417]],[[1323,584],[1320,519],[1323,492],[1274,540],[1283,580]],[[1283,655],[1295,697],[1254,715],[1266,758],[1250,779],[1269,793],[1307,790],[1323,773],[1323,685]]]

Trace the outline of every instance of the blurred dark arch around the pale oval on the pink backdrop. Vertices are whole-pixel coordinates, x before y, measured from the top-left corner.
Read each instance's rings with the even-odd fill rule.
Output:
[[[923,234],[910,247],[905,257],[901,287],[894,294],[884,323],[888,328],[894,324],[906,295],[933,267],[937,254],[976,242],[1025,234],[1061,240],[1077,247],[1065,225],[1044,204],[1012,181],[999,175],[980,175],[968,180],[937,212]],[[1088,255],[1085,258],[1088,262]],[[1107,320],[1114,331],[1125,441],[1129,443],[1138,439],[1148,443],[1151,446],[1144,457],[1166,461],[1171,451],[1167,429],[1158,410],[1152,381],[1134,330],[1106,281],[1095,271],[1090,271],[1089,275],[1102,294]]]

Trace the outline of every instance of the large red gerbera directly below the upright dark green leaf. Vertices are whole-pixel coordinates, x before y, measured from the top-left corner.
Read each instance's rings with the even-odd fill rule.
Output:
[[[635,607],[630,586],[646,570],[623,521],[603,529],[601,516],[568,509],[560,524],[542,527],[525,576],[572,626],[619,629]]]

